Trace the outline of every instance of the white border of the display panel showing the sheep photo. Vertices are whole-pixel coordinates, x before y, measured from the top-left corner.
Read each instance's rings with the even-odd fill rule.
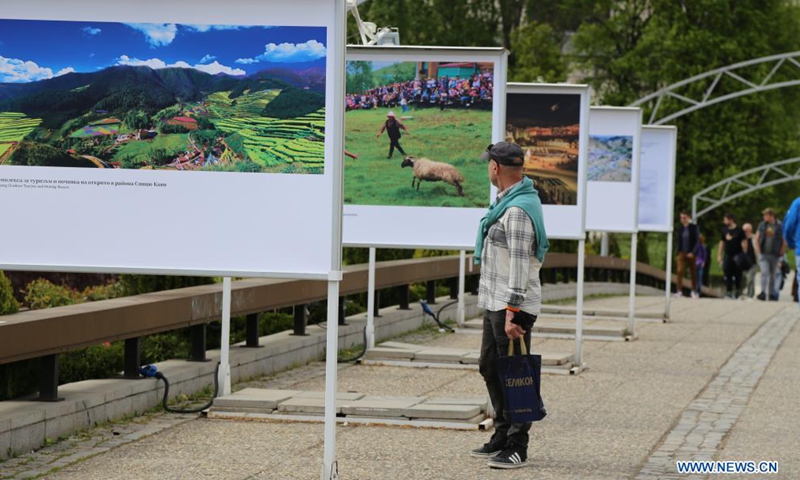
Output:
[[[501,141],[505,131],[507,58],[508,52],[503,48],[347,47],[347,61],[493,62],[492,143]],[[482,153],[475,152],[475,158]],[[494,198],[493,192],[487,190],[486,197],[488,203]],[[485,213],[486,208],[344,205],[343,244],[472,251],[478,224]]]

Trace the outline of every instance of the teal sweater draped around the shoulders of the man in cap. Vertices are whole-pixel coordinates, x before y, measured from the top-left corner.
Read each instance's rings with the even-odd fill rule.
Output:
[[[499,201],[494,202],[489,211],[486,212],[481,225],[478,229],[478,239],[475,242],[475,264],[481,263],[483,252],[483,241],[489,233],[489,228],[511,207],[519,207],[528,214],[533,222],[533,230],[536,234],[536,258],[544,263],[544,256],[550,249],[550,242],[547,241],[547,232],[544,229],[544,215],[542,214],[542,201],[539,199],[539,192],[533,188],[530,178],[524,177],[522,181]]]

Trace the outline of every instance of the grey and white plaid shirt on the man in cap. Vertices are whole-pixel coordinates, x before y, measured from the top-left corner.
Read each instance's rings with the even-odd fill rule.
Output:
[[[498,200],[507,189],[500,193]],[[489,311],[506,307],[538,315],[542,304],[539,281],[541,262],[536,258],[536,241],[530,217],[511,207],[489,228],[481,252],[481,281],[478,307]]]

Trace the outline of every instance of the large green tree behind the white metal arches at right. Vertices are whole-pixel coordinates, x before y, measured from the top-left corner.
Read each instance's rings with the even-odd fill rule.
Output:
[[[607,10],[604,10],[607,9]],[[788,0],[624,0],[601,1],[574,37],[582,74],[602,103],[626,105],[687,77],[753,58],[800,50],[795,34],[800,7]],[[605,12],[605,13],[604,13]],[[608,20],[600,21],[606,15]],[[756,84],[769,68],[740,74]],[[782,71],[773,81],[779,81]],[[678,93],[702,98],[711,80]],[[731,79],[718,95],[738,90]],[[691,196],[737,172],[797,156],[800,92],[780,89],[742,97],[677,119],[676,209]],[[661,111],[674,111],[666,100]],[[645,112],[645,118],[647,118]],[[788,206],[789,189],[766,189],[742,197],[729,208],[740,219],[759,218],[764,206]],[[704,220],[716,227],[722,211]],[[677,218],[677,216],[676,216]],[[712,239],[712,230],[707,230]]]

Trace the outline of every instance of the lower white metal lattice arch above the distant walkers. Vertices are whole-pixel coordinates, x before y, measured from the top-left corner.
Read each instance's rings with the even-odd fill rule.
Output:
[[[697,221],[701,215],[762,188],[796,181],[800,181],[800,157],[745,170],[695,193],[692,196],[692,219]]]

